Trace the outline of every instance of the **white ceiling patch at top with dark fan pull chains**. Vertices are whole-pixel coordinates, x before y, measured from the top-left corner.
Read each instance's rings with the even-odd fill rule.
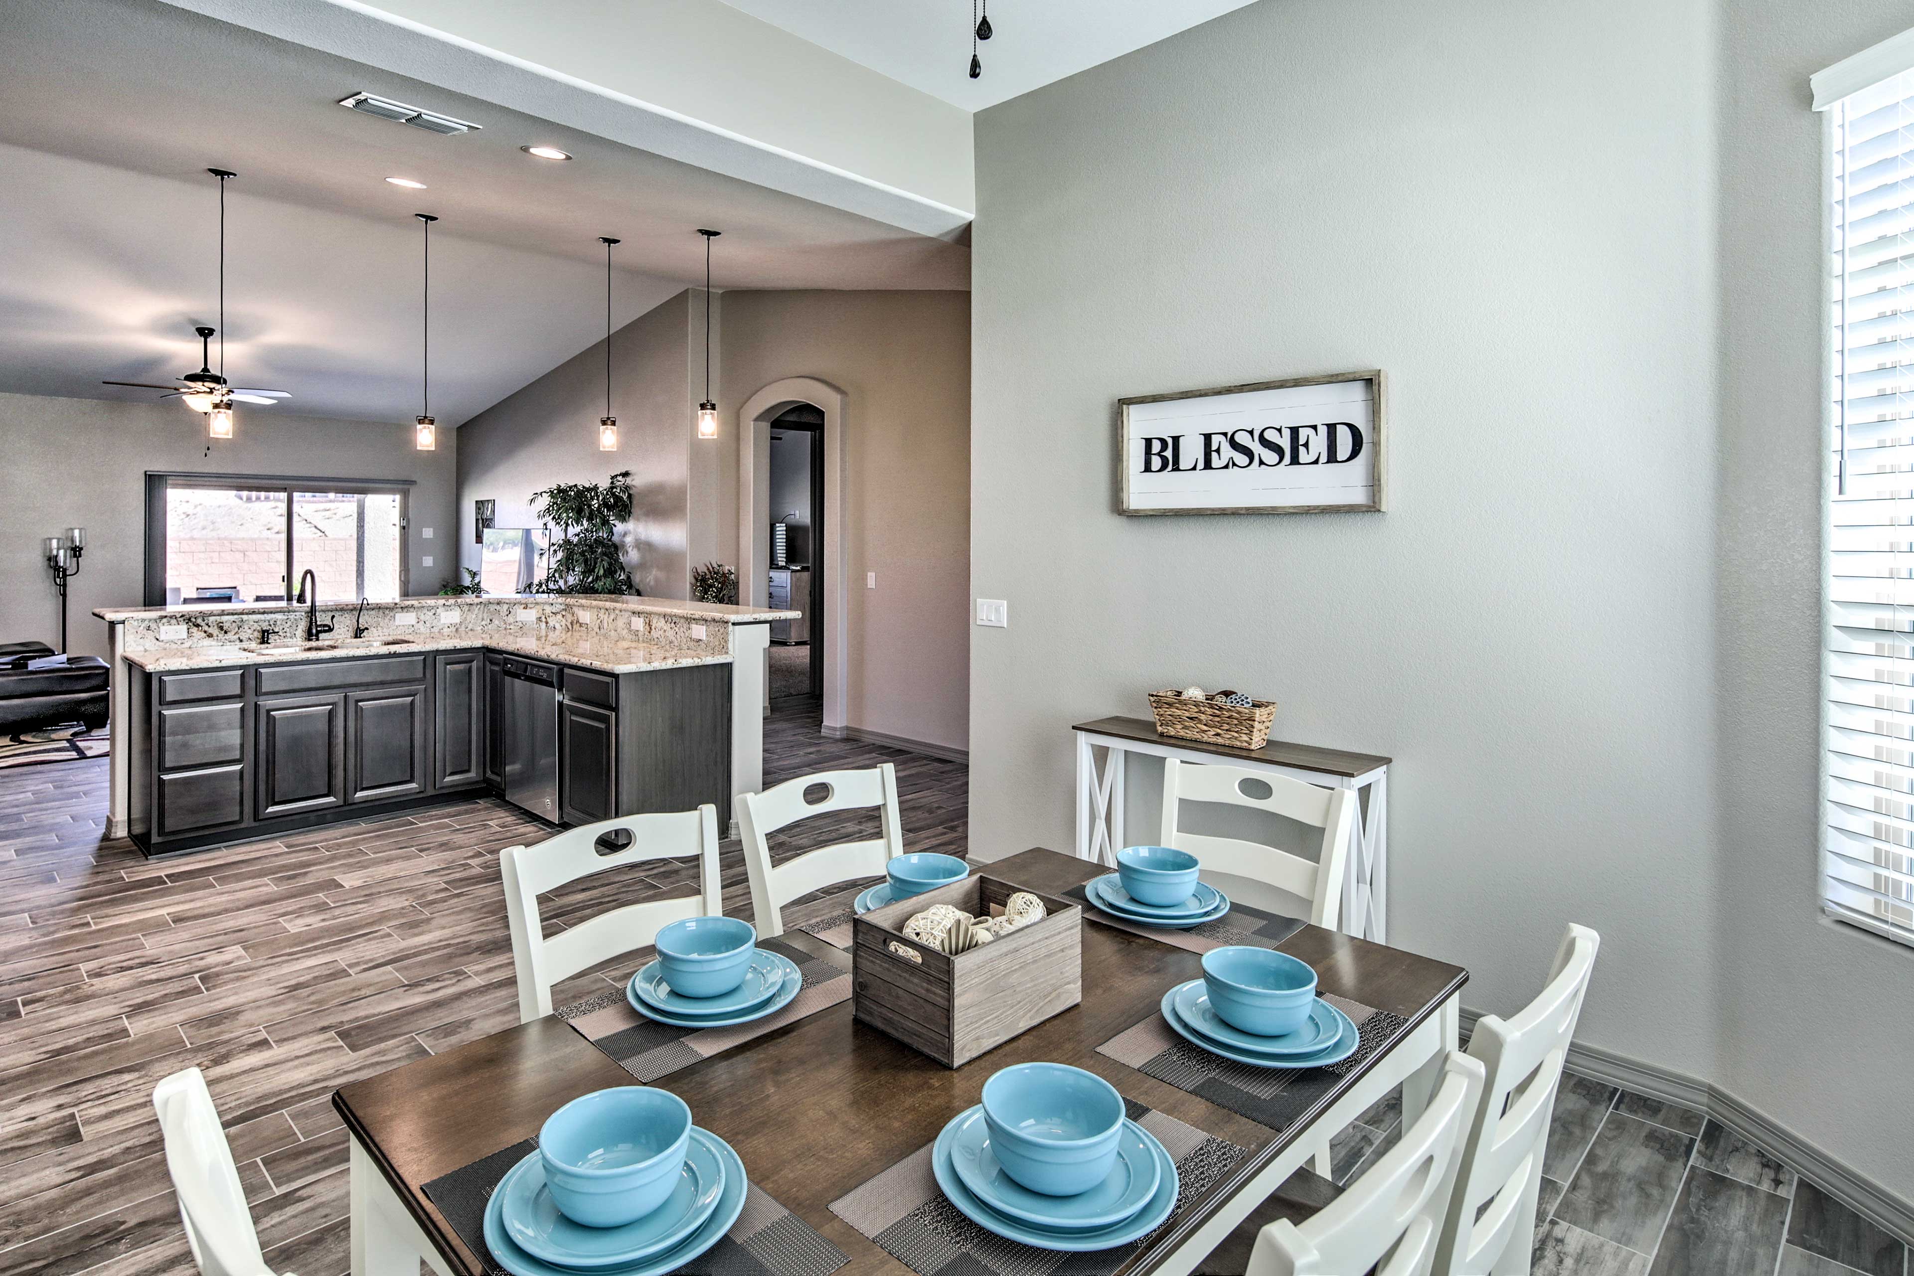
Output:
[[[970,0],[723,0],[932,98],[982,111],[1252,0],[990,0],[970,78]]]

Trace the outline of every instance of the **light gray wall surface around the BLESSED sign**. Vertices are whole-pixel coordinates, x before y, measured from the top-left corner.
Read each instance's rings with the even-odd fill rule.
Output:
[[[1470,1006],[1587,922],[1585,1039],[1715,1075],[1711,40],[1282,0],[978,115],[974,853],[1072,844],[1070,723],[1254,691],[1395,758],[1391,939]],[[1390,513],[1110,513],[1120,396],[1361,367]]]

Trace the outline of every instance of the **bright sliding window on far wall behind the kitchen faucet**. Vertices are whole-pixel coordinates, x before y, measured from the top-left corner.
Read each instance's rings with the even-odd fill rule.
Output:
[[[406,593],[406,486],[147,474],[145,601],[322,603]],[[291,582],[291,585],[289,585]]]

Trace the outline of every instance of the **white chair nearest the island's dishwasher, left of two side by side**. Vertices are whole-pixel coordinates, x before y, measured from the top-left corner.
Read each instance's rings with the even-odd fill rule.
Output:
[[[599,840],[618,830],[628,832],[632,842],[624,849],[599,851]],[[699,859],[697,895],[630,903],[545,935],[538,916],[538,897],[545,891],[597,872],[687,855]],[[697,811],[620,815],[567,828],[538,846],[507,846],[498,863],[505,878],[505,916],[511,920],[521,1023],[551,1014],[551,985],[559,979],[645,947],[672,922],[723,913],[723,888],[718,878],[718,807],[708,802]]]

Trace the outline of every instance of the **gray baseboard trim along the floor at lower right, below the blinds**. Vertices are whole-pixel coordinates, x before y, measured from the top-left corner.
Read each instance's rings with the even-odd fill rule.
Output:
[[[1480,1010],[1462,1008],[1464,1039],[1480,1018]],[[1569,1071],[1635,1090],[1636,1094],[1665,1098],[1673,1104],[1705,1111],[1742,1138],[1767,1148],[1807,1175],[1816,1188],[1822,1188],[1855,1213],[1872,1219],[1904,1243],[1914,1245],[1914,1201],[1857,1173],[1839,1157],[1809,1142],[1744,1098],[1723,1090],[1719,1085],[1581,1041],[1569,1043],[1568,1067]]]

